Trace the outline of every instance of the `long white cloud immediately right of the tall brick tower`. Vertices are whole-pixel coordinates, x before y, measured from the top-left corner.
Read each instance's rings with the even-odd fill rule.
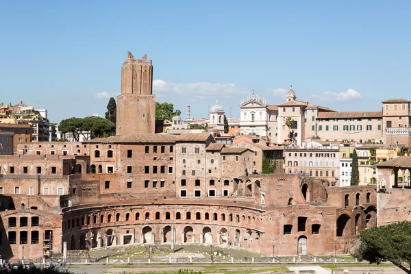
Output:
[[[185,83],[176,84],[165,82],[163,80],[153,81],[153,93],[173,92],[177,94],[186,94],[191,101],[206,99],[208,97],[223,97],[231,98],[232,95],[246,95],[249,94],[247,88],[242,88],[234,84],[221,83]]]

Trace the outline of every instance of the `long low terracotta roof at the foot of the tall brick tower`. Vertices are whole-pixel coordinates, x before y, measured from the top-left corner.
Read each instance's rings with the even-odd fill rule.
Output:
[[[116,143],[116,142],[175,142],[177,136],[171,134],[138,134],[132,133],[126,136],[110,136],[107,138],[95,138],[84,141],[83,143]]]

